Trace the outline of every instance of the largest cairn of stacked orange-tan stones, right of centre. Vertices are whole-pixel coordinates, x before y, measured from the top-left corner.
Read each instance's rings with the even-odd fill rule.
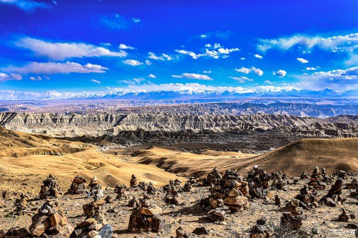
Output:
[[[229,169],[220,182],[211,188],[208,199],[210,220],[223,221],[231,211],[242,211],[250,207],[248,183],[238,179],[238,174]]]

